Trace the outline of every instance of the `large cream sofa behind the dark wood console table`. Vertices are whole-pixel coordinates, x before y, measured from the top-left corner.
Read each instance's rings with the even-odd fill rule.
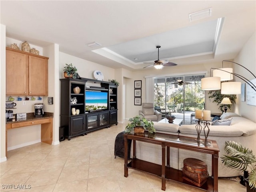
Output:
[[[232,177],[239,176],[242,171],[231,169],[224,164],[220,157],[226,154],[224,147],[225,141],[236,141],[241,143],[244,147],[252,149],[256,155],[256,123],[235,113],[225,113],[220,116],[220,120],[215,120],[220,125],[210,125],[209,140],[215,140],[220,149],[218,160],[218,176]],[[224,121],[231,121],[230,125],[221,125]],[[158,133],[167,133],[172,135],[181,135],[187,137],[197,137],[195,124],[193,125],[176,125],[172,123],[154,122],[154,127]],[[204,131],[202,129],[200,134],[201,139],[204,139]],[[136,157],[145,161],[156,164],[162,163],[162,152],[160,145],[152,143],[136,142]],[[132,152],[131,152],[132,153]],[[208,166],[208,172],[212,174],[212,156],[205,153],[188,151],[184,149],[177,149],[170,147],[170,166],[176,169],[183,167],[183,160],[186,158],[196,158],[204,161]]]

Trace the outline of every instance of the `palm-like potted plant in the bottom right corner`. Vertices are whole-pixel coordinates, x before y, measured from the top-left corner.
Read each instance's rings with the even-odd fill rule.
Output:
[[[247,168],[251,171],[248,178],[247,192],[256,191],[256,157],[253,155],[252,150],[242,147],[240,143],[235,141],[225,142],[225,151],[227,155],[221,157],[222,163],[230,168],[235,168],[238,170],[246,171]]]

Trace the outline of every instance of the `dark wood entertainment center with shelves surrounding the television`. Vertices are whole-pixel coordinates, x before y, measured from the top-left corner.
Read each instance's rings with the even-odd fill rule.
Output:
[[[117,85],[88,78],[60,79],[60,127],[64,127],[64,135],[71,137],[86,135],[90,131],[110,127],[117,122]],[[93,86],[89,86],[93,85]],[[73,88],[80,88],[74,93]],[[86,110],[86,91],[106,92],[107,107],[102,110]],[[71,103],[71,99],[76,99]],[[72,108],[80,113],[72,115]]]

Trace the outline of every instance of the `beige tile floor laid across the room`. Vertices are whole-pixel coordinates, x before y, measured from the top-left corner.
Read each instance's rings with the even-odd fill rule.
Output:
[[[126,124],[66,139],[60,145],[36,143],[8,151],[8,160],[0,163],[0,191],[162,192],[160,177],[129,169],[126,178],[124,159],[114,159],[116,135]],[[14,186],[8,188],[7,184]],[[218,184],[219,192],[246,192],[236,181],[219,179]],[[166,182],[166,192],[198,191],[203,190]]]

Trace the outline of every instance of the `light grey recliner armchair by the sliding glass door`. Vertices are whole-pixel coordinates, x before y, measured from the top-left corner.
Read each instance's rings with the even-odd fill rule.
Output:
[[[139,110],[139,115],[142,115],[148,121],[162,120],[162,113],[154,109],[153,103],[142,103],[142,110]]]

